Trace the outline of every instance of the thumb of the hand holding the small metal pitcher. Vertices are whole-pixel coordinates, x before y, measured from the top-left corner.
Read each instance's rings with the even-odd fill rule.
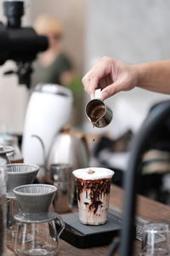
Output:
[[[124,84],[122,81],[116,81],[113,84],[108,85],[101,93],[101,99],[104,101],[105,99],[115,95],[117,92],[124,89]]]

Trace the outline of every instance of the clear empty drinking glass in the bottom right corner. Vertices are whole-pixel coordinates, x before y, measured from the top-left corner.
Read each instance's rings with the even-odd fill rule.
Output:
[[[142,256],[169,256],[170,230],[166,223],[144,225]]]

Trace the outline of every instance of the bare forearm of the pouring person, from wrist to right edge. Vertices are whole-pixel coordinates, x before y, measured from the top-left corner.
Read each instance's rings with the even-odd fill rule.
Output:
[[[135,64],[138,73],[137,86],[170,94],[170,60]]]

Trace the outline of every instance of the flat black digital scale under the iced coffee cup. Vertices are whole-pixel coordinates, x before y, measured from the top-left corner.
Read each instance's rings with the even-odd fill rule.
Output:
[[[88,248],[101,247],[111,243],[113,238],[122,230],[122,212],[116,208],[110,208],[107,223],[99,226],[81,224],[78,213],[62,215],[65,221],[65,230],[60,238],[67,241],[74,247]],[[142,241],[143,226],[148,222],[143,218],[136,218],[136,239]],[[156,237],[156,242],[163,238]]]

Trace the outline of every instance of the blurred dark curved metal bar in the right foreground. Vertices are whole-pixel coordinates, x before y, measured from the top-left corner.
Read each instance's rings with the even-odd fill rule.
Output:
[[[127,165],[128,172],[126,172],[124,183],[126,193],[123,204],[121,256],[134,255],[136,194],[139,177],[141,176],[141,168],[139,168],[141,156],[144,153],[146,142],[149,140],[154,129],[156,129],[156,125],[160,125],[168,116],[170,117],[170,101],[159,103],[150,111],[143,125],[141,125],[137,136],[134,138],[131,156]],[[113,250],[110,250],[108,255],[113,255]]]

